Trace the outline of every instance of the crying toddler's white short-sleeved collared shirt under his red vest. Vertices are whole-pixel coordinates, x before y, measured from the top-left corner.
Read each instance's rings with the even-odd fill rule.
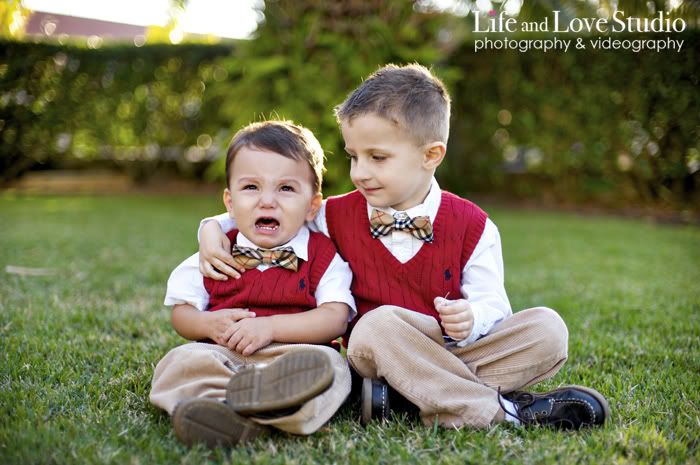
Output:
[[[230,231],[231,229],[229,228],[228,230]],[[240,231],[236,236],[236,243],[244,247],[258,247]],[[289,242],[274,247],[273,250],[282,247],[291,247],[297,258],[308,260],[309,229],[306,226],[302,226],[297,235]],[[271,268],[271,265],[261,263],[256,268],[264,272]],[[328,269],[321,276],[316,292],[314,292],[316,305],[329,302],[345,303],[350,307],[348,321],[352,320],[357,314],[357,308],[355,307],[355,299],[350,292],[351,283],[352,272],[350,271],[350,266],[336,253],[330,265],[328,265]],[[184,303],[188,303],[200,311],[206,310],[209,305],[209,293],[204,287],[203,276],[199,271],[199,253],[180,263],[168,279],[164,304],[176,305]]]

